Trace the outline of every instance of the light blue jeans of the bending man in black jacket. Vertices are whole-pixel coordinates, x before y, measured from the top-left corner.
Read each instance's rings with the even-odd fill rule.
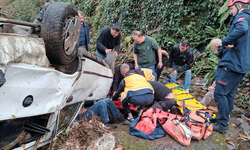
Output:
[[[177,66],[173,63],[173,70],[177,70],[180,66]],[[185,71],[185,85],[184,85],[184,90],[187,90],[190,88],[191,86],[191,69]],[[170,83],[175,83],[176,82],[176,78],[177,78],[177,74],[175,76],[172,75],[172,73],[170,74],[171,77],[171,81]]]

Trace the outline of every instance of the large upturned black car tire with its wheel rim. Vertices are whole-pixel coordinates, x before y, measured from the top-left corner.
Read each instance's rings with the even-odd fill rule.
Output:
[[[78,54],[80,22],[75,7],[54,2],[46,10],[41,23],[46,55],[51,64],[69,65]]]

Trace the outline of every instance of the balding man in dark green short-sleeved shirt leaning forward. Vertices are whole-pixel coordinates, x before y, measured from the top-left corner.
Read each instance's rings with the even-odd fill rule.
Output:
[[[135,69],[148,68],[155,71],[155,51],[158,52],[158,68],[162,68],[162,54],[156,41],[144,35],[141,31],[134,31],[132,37],[135,41],[133,47],[133,56],[135,61]]]

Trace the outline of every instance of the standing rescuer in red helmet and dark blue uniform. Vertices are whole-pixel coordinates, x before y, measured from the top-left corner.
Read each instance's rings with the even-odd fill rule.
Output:
[[[229,114],[239,83],[250,66],[250,10],[249,0],[229,0],[228,7],[233,16],[228,35],[222,40],[223,56],[215,75],[215,102],[219,115],[213,130],[228,131]]]

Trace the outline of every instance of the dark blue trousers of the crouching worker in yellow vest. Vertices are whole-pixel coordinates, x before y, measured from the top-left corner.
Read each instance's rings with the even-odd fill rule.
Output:
[[[129,99],[122,105],[124,107],[124,113],[131,113],[128,103],[135,106],[140,106],[140,109],[143,109],[145,105],[149,105],[154,101],[154,95],[152,93],[135,95],[129,97]]]

